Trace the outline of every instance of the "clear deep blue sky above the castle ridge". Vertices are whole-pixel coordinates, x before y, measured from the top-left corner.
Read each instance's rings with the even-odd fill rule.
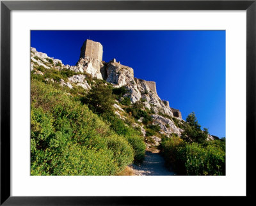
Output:
[[[134,77],[155,81],[157,94],[202,128],[225,136],[225,31],[31,31],[31,47],[75,65],[87,38],[103,45]]]

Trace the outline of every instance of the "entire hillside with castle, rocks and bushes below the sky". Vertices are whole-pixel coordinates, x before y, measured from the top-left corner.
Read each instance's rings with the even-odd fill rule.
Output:
[[[70,66],[31,48],[31,175],[225,175],[225,138],[102,55],[86,40]]]

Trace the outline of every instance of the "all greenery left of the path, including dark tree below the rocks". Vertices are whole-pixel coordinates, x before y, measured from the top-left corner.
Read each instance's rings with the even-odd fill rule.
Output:
[[[53,65],[52,59],[47,61]],[[140,131],[113,113],[115,98],[127,92],[125,87],[113,89],[86,74],[89,92],[70,89],[61,87],[60,80],[81,73],[38,64],[35,69],[44,75],[31,71],[31,175],[117,175],[143,161]],[[131,100],[121,103],[130,106]]]

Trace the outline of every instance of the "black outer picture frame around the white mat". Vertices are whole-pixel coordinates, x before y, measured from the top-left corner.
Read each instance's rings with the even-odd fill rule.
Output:
[[[165,205],[199,197],[10,196],[10,12],[12,10],[246,10],[246,197],[253,198],[256,115],[256,0],[243,1],[1,1],[1,205]],[[218,200],[209,197],[211,203]],[[222,197],[225,198],[225,197]],[[201,200],[201,199],[200,199]],[[160,202],[159,202],[160,201]],[[200,201],[201,202],[201,201]],[[200,203],[198,202],[198,203]]]

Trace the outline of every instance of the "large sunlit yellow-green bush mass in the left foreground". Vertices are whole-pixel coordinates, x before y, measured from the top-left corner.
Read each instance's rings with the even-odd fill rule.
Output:
[[[86,105],[31,80],[31,175],[115,175],[134,150]]]

